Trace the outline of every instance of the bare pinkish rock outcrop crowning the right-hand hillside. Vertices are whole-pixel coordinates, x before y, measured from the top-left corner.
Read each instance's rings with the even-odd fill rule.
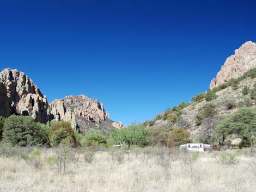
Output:
[[[256,43],[247,41],[235,54],[227,58],[216,78],[211,80],[210,89],[215,88],[232,78],[238,78],[256,67]]]

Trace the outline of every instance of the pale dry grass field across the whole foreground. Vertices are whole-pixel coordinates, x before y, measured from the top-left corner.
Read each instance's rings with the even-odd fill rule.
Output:
[[[235,164],[223,164],[219,152],[200,153],[193,160],[192,153],[154,151],[98,151],[92,163],[85,163],[80,154],[65,173],[44,161],[54,155],[51,149],[43,150],[41,169],[21,158],[0,157],[0,191],[256,191],[255,153],[236,152]]]

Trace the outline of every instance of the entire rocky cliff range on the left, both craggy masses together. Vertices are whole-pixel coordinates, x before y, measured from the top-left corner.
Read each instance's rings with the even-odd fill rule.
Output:
[[[121,128],[114,122],[101,102],[85,95],[66,96],[48,103],[46,96],[33,81],[18,70],[4,69],[0,72],[0,116],[11,114],[29,115],[36,121],[69,121],[74,129],[85,133],[89,128],[108,131]]]

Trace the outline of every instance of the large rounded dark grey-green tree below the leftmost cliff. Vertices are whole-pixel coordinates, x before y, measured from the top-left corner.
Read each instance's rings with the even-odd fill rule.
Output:
[[[4,121],[3,141],[13,145],[41,144],[42,131],[31,116],[11,115]]]

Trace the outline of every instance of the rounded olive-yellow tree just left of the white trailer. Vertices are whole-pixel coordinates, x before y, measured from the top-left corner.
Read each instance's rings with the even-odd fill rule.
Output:
[[[190,143],[190,132],[181,127],[174,128],[167,138],[168,147],[178,147],[187,143]]]

